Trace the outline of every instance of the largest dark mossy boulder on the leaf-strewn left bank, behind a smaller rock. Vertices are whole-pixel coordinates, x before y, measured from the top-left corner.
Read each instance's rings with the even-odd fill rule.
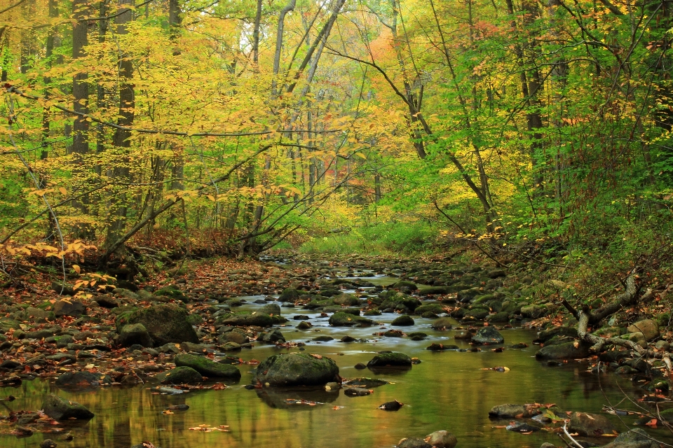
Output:
[[[154,306],[126,311],[117,317],[117,330],[129,323],[142,323],[154,341],[154,346],[168,342],[198,342],[198,336],[187,321],[189,313],[177,304],[156,304]]]

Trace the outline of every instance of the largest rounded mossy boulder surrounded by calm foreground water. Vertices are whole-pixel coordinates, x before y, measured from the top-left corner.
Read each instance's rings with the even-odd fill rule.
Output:
[[[259,363],[256,379],[271,386],[322,386],[338,375],[337,363],[326,356],[282,353]]]

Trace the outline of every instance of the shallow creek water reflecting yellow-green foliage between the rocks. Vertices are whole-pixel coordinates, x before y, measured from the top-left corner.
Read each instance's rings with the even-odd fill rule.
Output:
[[[368,278],[373,283],[395,281],[390,277]],[[243,309],[254,309],[261,304],[252,301],[262,298],[242,297],[247,302]],[[299,321],[292,316],[305,314],[313,323],[311,330],[295,330]],[[592,374],[587,363],[570,362],[561,367],[548,367],[534,358],[538,346],[531,342],[534,330],[512,328],[501,330],[505,347],[517,342],[529,344],[526,349],[505,349],[501,353],[483,347],[480,352],[442,351],[430,352],[431,342],[456,344],[468,349],[467,342],[453,339],[454,330],[437,331],[430,328],[432,320],[415,318],[413,327],[405,332],[422,331],[428,334],[423,341],[407,338],[376,337],[379,327],[334,328],[314,311],[300,308],[283,308],[283,315],[290,322],[280,330],[287,341],[306,342],[307,353],[329,356],[339,365],[342,377],[378,377],[393,384],[374,388],[372,395],[348,397],[343,391],[326,392],[308,388],[247,390],[245,384],[252,380],[254,365],[239,365],[243,377],[238,384],[229,384],[225,390],[191,391],[182,395],[156,395],[141,384],[130,388],[108,386],[95,391],[66,391],[52,382],[36,379],[24,381],[20,388],[5,388],[4,395],[17,397],[13,402],[0,401],[0,414],[9,410],[37,410],[43,395],[57,393],[64,398],[80,402],[95,413],[86,423],[70,426],[74,440],[59,441],[60,435],[36,433],[32,437],[18,438],[8,435],[11,426],[0,426],[0,447],[38,447],[44,438],[57,440],[60,447],[129,448],[143,441],[150,441],[162,448],[195,447],[276,447],[276,448],[344,448],[344,447],[393,447],[403,437],[424,437],[435,430],[449,430],[458,437],[458,447],[539,447],[543,442],[557,446],[563,443],[554,432],[540,430],[531,435],[512,433],[504,428],[508,421],[489,419],[488,412],[494,405],[504,403],[555,403],[567,411],[601,412],[609,403],[616,405],[624,398],[642,395],[629,379],[615,374]],[[394,314],[374,316],[386,328]],[[456,322],[456,325],[459,325]],[[334,337],[330,342],[311,342],[319,335]],[[367,342],[340,342],[344,335],[367,339]],[[372,372],[356,370],[357,363],[367,363],[376,351],[402,351],[418,357],[421,363],[412,369],[397,372]],[[238,356],[243,360],[263,360],[274,353],[299,351],[298,348],[278,349],[276,346],[256,344]],[[508,372],[482,370],[506,366]],[[624,393],[620,390],[620,386]],[[288,405],[287,398],[311,400],[315,405]],[[404,406],[397,412],[377,409],[383,402],[398,400]],[[627,402],[627,400],[626,400]],[[623,402],[620,407],[631,407]],[[189,405],[189,410],[163,414],[168,405]],[[334,409],[334,407],[340,407]],[[623,422],[613,419],[618,430],[633,428],[634,417],[624,417]],[[229,433],[209,433],[189,428],[199,425],[228,425]],[[670,441],[665,430],[648,431],[655,437]],[[601,437],[594,440],[607,443]]]

